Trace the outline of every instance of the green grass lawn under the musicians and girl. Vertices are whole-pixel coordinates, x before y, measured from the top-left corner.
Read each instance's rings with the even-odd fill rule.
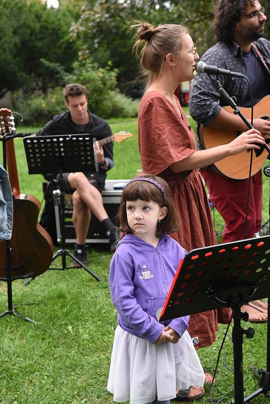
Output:
[[[131,131],[133,137],[115,143],[116,166],[108,179],[136,176],[141,168],[137,120],[109,121],[112,131]],[[18,128],[18,132],[38,128]],[[21,193],[42,199],[41,175],[28,175],[22,139],[15,140]],[[2,162],[2,156],[0,156]],[[268,212],[268,181],[264,177],[264,219]],[[222,221],[216,214],[217,224]],[[46,271],[28,286],[22,280],[12,283],[17,311],[37,322],[36,325],[15,316],[0,319],[0,403],[1,404],[109,404],[106,390],[116,312],[110,300],[108,273],[112,254],[108,247],[88,248],[89,269],[100,278],[97,282],[83,269]],[[61,259],[57,264],[61,268]],[[7,310],[7,285],[0,282],[0,312]],[[248,370],[266,367],[266,324],[245,324],[255,329],[254,339],[244,338],[245,395],[258,388]],[[225,326],[220,326],[217,341],[199,351],[203,367],[213,372]],[[233,354],[231,330],[221,354],[214,398],[233,394]],[[209,388],[207,389],[209,392]],[[207,394],[200,402],[206,403]],[[223,402],[231,402],[231,399]],[[266,403],[259,395],[254,404]]]

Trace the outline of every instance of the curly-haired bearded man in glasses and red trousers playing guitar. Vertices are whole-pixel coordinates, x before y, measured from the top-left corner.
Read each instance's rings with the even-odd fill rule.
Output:
[[[214,11],[214,31],[218,42],[201,60],[208,65],[240,72],[250,80],[254,103],[270,94],[270,42],[263,38],[266,16],[258,0],[218,0]],[[219,76],[223,88],[237,98],[237,105],[251,107],[246,80]],[[190,94],[190,114],[198,124],[232,131],[245,131],[238,115],[222,108],[226,100],[212,86],[206,74],[197,74]],[[256,118],[253,126],[265,139],[270,138],[270,122]],[[211,201],[225,221],[223,242],[243,239],[246,216],[248,179],[223,177],[210,167],[201,170]],[[246,237],[253,237],[261,226],[261,171],[251,177],[249,215]],[[267,306],[260,300],[245,305],[252,321],[266,321]]]

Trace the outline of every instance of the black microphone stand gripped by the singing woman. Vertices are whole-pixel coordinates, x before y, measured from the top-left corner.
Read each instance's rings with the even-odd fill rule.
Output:
[[[246,117],[242,114],[240,109],[237,107],[236,103],[234,102],[234,99],[228,94],[226,90],[222,87],[220,82],[217,80],[217,78],[213,79],[210,77],[208,74],[212,85],[217,89],[217,91],[227,100],[228,104],[230,107],[233,108],[234,114],[239,115],[242,121],[247,125],[249,129],[254,129],[251,123],[246,119]],[[270,153],[270,148],[269,146],[263,142],[263,147]],[[268,168],[266,168],[268,167]],[[266,166],[264,168],[264,174],[266,176],[270,177],[270,166]],[[266,170],[265,170],[266,169]],[[269,202],[269,216],[270,216],[270,202]],[[267,299],[267,301],[269,298]],[[236,319],[235,319],[236,320]],[[264,394],[266,397],[270,397],[270,394],[268,393],[270,391],[270,310],[268,308],[268,313],[267,313],[267,342],[266,342],[266,370],[259,369],[258,372],[256,372],[255,368],[253,366],[249,366],[249,369],[255,374],[259,381],[259,388],[251,393],[249,396],[244,398],[244,403],[249,403],[250,400],[254,397],[257,397],[259,394]]]

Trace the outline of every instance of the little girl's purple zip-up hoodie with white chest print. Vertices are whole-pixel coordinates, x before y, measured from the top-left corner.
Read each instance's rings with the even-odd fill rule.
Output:
[[[110,291],[120,327],[155,342],[168,325],[180,336],[189,316],[158,322],[156,312],[167,297],[178,264],[187,251],[168,235],[157,247],[133,234],[118,243],[110,265]]]

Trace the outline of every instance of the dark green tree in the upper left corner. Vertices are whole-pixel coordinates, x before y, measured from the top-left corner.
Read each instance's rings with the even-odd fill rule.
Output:
[[[47,8],[40,0],[1,0],[0,97],[9,90],[46,92],[62,83],[77,57],[68,8]]]

